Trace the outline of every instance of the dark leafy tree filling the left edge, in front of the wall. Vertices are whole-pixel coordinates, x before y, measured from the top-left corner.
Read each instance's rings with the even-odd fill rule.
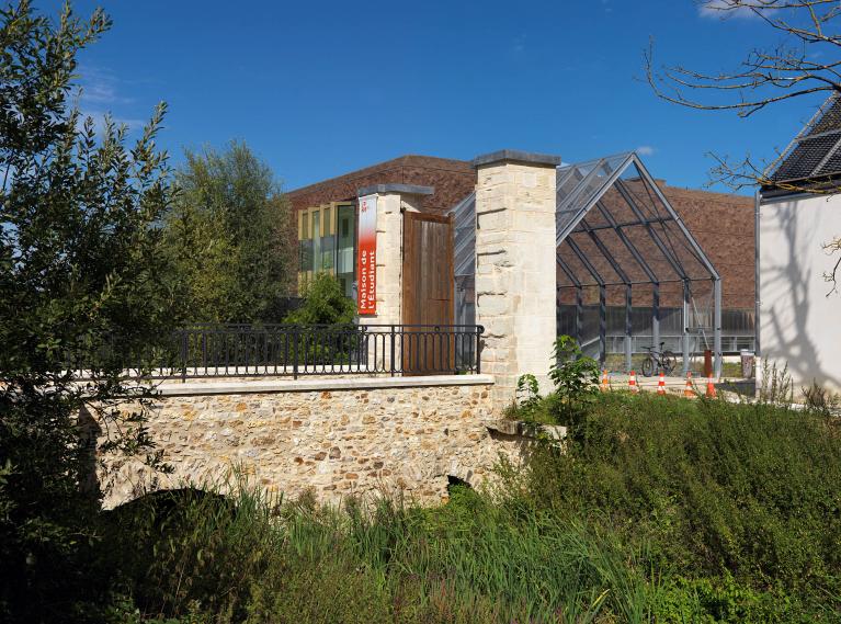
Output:
[[[0,9],[0,620],[61,621],[87,587],[99,506],[91,446],[147,454],[154,397],[120,378],[173,320],[156,224],[169,204],[155,137],[68,104],[77,55],[110,27],[66,7],[57,21],[21,1]],[[159,345],[160,347],[160,345]],[[84,362],[77,383],[70,365]],[[130,413],[122,397],[133,394]]]

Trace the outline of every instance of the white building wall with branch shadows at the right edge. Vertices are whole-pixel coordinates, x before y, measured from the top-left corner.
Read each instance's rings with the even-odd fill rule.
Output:
[[[795,385],[812,379],[841,392],[841,295],[823,275],[838,257],[822,246],[841,236],[841,195],[762,202],[758,224],[759,350]]]

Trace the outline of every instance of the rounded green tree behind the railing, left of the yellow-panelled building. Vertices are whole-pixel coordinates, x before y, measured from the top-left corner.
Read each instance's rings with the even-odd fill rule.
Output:
[[[292,291],[288,202],[245,143],[186,150],[164,218],[164,250],[193,322],[277,321]]]

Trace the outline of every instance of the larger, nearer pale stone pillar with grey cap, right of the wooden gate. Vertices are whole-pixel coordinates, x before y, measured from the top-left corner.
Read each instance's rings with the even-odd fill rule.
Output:
[[[516,379],[548,379],[557,333],[557,156],[501,150],[476,158],[476,322],[485,327],[482,373],[495,375],[495,409]]]

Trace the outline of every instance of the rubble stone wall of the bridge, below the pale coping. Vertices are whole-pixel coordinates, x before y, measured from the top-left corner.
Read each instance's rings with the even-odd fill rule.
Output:
[[[100,475],[105,507],[152,489],[218,483],[234,467],[284,496],[311,488],[337,502],[401,490],[439,502],[448,476],[478,486],[500,452],[518,456],[518,443],[488,430],[491,385],[257,394],[195,386],[191,396],[164,396],[149,420],[174,473],[109,458]]]

